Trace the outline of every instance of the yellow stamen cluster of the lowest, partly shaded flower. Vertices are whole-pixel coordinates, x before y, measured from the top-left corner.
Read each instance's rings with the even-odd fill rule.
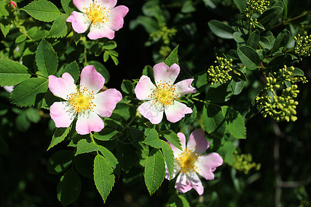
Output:
[[[200,168],[196,165],[198,163],[198,153],[194,152],[192,147],[186,148],[182,154],[176,158],[177,164],[180,166],[180,173],[191,174],[198,172]]]

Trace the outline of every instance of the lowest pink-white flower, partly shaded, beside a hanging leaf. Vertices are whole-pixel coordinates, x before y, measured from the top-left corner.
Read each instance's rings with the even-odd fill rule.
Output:
[[[214,179],[214,171],[216,167],[223,164],[223,158],[216,152],[211,152],[207,155],[202,153],[209,148],[209,141],[205,139],[203,130],[194,130],[191,133],[187,142],[184,134],[179,132],[178,137],[182,150],[169,143],[175,157],[175,166],[171,179],[176,177],[178,172],[175,188],[180,193],[186,193],[194,188],[199,195],[202,195],[204,188],[197,173],[205,179]],[[169,179],[168,170],[165,172],[165,178]]]

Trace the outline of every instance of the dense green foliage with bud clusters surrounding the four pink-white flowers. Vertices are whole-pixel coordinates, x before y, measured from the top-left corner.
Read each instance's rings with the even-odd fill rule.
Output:
[[[70,0],[0,1],[0,206],[310,206],[311,2],[118,1],[129,8],[113,40],[91,40],[66,22]],[[308,10],[309,8],[309,10]],[[193,112],[153,125],[134,88],[152,66],[178,63],[197,92]],[[22,63],[22,64],[21,64]],[[105,128],[56,128],[60,101],[48,76],[93,65],[122,92]],[[195,129],[224,163],[205,192],[182,194],[173,151]],[[60,203],[59,203],[60,202]]]

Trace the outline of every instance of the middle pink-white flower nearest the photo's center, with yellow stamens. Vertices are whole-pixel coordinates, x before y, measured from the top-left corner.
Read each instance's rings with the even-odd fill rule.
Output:
[[[140,100],[148,101],[142,103],[138,111],[152,124],[159,124],[162,121],[163,112],[167,120],[174,123],[192,112],[191,108],[176,100],[183,95],[196,92],[196,88],[191,86],[194,79],[185,79],[173,84],[179,72],[180,67],[176,63],[171,67],[165,63],[158,63],[153,66],[156,84],[145,75],[140,77],[135,87],[135,95]]]

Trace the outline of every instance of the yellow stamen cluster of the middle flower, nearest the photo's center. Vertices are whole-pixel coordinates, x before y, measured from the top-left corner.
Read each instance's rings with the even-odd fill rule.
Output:
[[[151,95],[149,95],[149,99],[153,99],[153,103],[160,107],[165,107],[167,105],[173,105],[175,99],[179,99],[179,96],[176,94],[176,86],[171,83],[171,81],[167,83],[162,83],[162,81],[157,81],[155,84],[156,89],[153,90]],[[158,86],[158,87],[157,87]]]

